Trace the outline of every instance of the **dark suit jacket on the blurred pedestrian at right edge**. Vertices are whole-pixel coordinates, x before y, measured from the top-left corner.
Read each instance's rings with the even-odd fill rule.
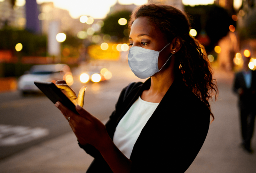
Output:
[[[245,84],[245,78],[243,72],[238,72],[235,75],[234,84],[233,84],[233,91],[238,93],[238,89],[242,88],[244,93],[239,96],[238,105],[240,109],[254,109],[256,104],[256,72],[252,71],[252,83],[251,87],[247,88]]]

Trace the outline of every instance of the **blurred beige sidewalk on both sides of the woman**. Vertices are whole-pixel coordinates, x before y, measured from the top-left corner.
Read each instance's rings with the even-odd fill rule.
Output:
[[[216,70],[215,77],[219,86],[218,101],[212,103],[215,120],[210,125],[201,151],[186,173],[255,173],[255,135],[252,140],[253,154],[239,147],[237,97],[231,92],[233,74]],[[84,173],[92,160],[79,148],[75,135],[68,133],[2,161],[0,172]]]

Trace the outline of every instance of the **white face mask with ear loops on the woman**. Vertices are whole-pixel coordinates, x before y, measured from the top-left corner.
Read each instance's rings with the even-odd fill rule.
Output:
[[[170,43],[168,43],[164,48],[166,48]],[[162,48],[162,50],[164,49]],[[128,64],[132,72],[140,79],[146,79],[153,74],[159,72],[171,58],[173,54],[168,58],[165,64],[158,69],[158,57],[159,53],[162,51],[155,51],[151,49],[145,49],[138,46],[130,48],[128,54]]]

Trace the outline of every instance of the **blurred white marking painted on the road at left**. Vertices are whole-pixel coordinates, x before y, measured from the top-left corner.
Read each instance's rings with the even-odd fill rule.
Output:
[[[49,134],[49,130],[42,127],[25,127],[0,124],[0,146],[23,144]]]

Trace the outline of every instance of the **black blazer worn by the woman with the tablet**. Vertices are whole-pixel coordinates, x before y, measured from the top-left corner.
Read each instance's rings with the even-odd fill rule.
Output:
[[[150,79],[135,88],[123,102],[125,88],[116,104],[116,110],[106,123],[113,139],[117,124],[146,89]],[[142,129],[130,160],[131,172],[185,172],[200,151],[210,124],[210,110],[185,86],[183,81],[174,80]],[[103,157],[93,146],[81,146],[95,157],[88,173],[112,172]]]

